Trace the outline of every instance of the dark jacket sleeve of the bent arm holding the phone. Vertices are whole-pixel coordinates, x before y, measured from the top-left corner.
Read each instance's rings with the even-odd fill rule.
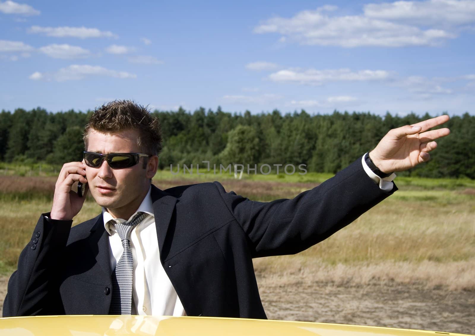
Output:
[[[11,275],[3,303],[3,317],[61,314],[56,270],[73,221],[57,221],[40,216],[28,245]],[[56,308],[52,308],[56,307]],[[63,313],[64,314],[64,313]]]

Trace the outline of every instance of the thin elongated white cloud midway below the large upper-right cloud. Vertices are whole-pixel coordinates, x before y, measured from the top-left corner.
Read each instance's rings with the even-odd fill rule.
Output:
[[[269,75],[269,79],[281,83],[297,83],[322,85],[325,82],[335,81],[371,81],[385,80],[390,78],[390,73],[385,70],[360,70],[357,72],[350,69],[335,70],[280,70]]]

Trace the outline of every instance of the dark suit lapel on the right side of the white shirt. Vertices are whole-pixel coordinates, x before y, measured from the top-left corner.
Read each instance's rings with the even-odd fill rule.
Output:
[[[160,251],[160,259],[163,262],[163,245],[177,199],[152,185],[152,202],[155,226],[157,228],[158,249]]]

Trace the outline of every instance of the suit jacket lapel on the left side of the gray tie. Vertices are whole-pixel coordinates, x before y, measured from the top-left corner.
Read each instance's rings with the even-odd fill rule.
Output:
[[[97,217],[95,225],[91,228],[91,236],[89,239],[91,251],[95,255],[95,260],[104,271],[104,276],[110,281],[112,276],[110,262],[110,245],[109,234],[104,228],[104,220],[102,214]]]

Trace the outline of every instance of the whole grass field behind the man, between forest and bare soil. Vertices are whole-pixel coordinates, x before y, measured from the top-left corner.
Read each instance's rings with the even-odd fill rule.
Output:
[[[225,188],[259,201],[292,198],[328,175],[172,175],[159,172],[161,189],[220,180]],[[288,180],[288,181],[287,181]],[[309,182],[312,180],[312,182]],[[15,268],[39,215],[51,208],[54,176],[0,176],[0,272]],[[256,271],[302,281],[421,282],[428,286],[475,289],[475,182],[398,178],[399,191],[329,239],[295,256],[255,260]],[[88,199],[74,223],[99,213]],[[282,271],[284,270],[284,271]]]

